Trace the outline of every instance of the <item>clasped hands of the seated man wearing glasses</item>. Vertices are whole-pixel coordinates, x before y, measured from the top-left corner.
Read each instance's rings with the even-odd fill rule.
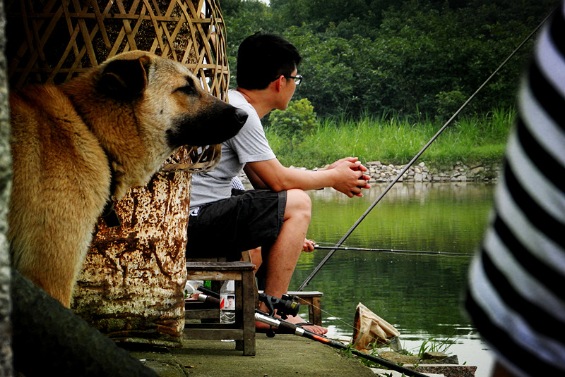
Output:
[[[334,171],[335,183],[331,187],[346,194],[347,197],[362,197],[361,190],[371,187],[367,184],[371,177],[364,174],[368,169],[358,161],[357,157],[345,157],[335,161],[325,170]]]

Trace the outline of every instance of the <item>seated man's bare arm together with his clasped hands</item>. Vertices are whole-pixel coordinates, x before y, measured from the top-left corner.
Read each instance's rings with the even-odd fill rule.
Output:
[[[362,196],[362,188],[368,188],[367,168],[362,166],[354,157],[335,161],[326,169],[319,171],[302,171],[285,168],[278,159],[248,162],[245,173],[254,187],[265,187],[273,191],[317,190],[323,187],[333,187],[347,197]]]

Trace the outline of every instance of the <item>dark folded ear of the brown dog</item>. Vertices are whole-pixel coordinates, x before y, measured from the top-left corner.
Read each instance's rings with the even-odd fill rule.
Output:
[[[135,99],[147,86],[149,56],[129,60],[114,60],[100,73],[98,90],[118,99]]]

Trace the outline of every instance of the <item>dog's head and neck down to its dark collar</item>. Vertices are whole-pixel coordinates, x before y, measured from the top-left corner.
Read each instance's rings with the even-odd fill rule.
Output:
[[[109,154],[118,198],[145,185],[177,147],[220,144],[247,118],[182,64],[146,51],[114,56],[63,90]]]

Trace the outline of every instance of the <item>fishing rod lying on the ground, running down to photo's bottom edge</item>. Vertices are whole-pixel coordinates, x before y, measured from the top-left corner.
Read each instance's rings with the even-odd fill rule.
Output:
[[[299,335],[302,336],[303,338],[316,340],[316,342],[321,342],[325,345],[329,345],[330,347],[337,348],[339,350],[347,350],[352,354],[362,357],[363,359],[367,359],[377,364],[381,364],[382,366],[385,366],[388,369],[392,369],[393,371],[404,373],[405,376],[428,377],[425,374],[422,374],[417,371],[413,371],[412,369],[405,368],[403,366],[393,363],[392,361],[383,359],[382,357],[377,357],[371,354],[360,352],[358,350],[355,350],[355,348],[351,348],[348,347],[347,345],[344,345],[342,342],[338,342],[337,340],[333,340],[330,338],[326,338],[323,335],[312,333],[309,330],[306,330],[300,326],[296,326],[293,323],[284,321],[283,319],[278,319],[273,316],[268,316],[266,313],[263,313],[262,311],[259,310],[255,311],[255,321],[267,323],[271,327],[278,328],[280,330],[280,333]]]

